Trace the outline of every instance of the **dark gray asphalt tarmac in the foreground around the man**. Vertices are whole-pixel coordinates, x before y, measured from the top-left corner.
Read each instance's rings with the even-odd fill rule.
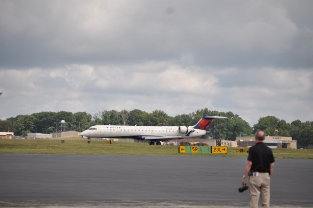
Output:
[[[0,207],[9,206],[6,202],[17,207],[109,202],[111,207],[126,202],[245,207],[248,191],[238,192],[245,164],[246,158],[230,157],[3,154]],[[313,160],[276,159],[271,204],[313,205],[312,172]]]

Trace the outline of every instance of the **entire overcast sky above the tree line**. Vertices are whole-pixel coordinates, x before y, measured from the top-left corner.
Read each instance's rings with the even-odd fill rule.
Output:
[[[232,111],[313,120],[312,0],[1,0],[0,119]]]

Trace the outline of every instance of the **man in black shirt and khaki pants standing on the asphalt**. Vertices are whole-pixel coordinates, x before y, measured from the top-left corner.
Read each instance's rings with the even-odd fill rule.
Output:
[[[274,156],[272,150],[263,143],[265,133],[258,130],[255,134],[255,145],[249,148],[246,171],[242,184],[246,185],[246,178],[250,172],[249,191],[250,206],[257,208],[261,194],[262,208],[269,208],[269,184],[270,174],[274,168]]]

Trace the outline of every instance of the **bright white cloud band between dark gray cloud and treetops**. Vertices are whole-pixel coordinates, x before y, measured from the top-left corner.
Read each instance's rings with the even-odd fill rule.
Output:
[[[151,69],[155,65],[163,66],[153,63]],[[142,66],[149,68],[147,63]],[[152,71],[144,71],[142,66],[137,64],[137,70],[133,65],[1,70],[6,82],[0,87],[4,92],[0,115],[5,118],[41,111],[94,114],[111,109],[148,112],[161,109],[176,116],[207,107],[232,111],[250,124],[268,115],[288,122],[298,118],[310,120],[313,116],[312,71],[221,69],[221,73],[214,74],[212,70],[184,68],[173,63]],[[242,80],[236,80],[241,76]],[[224,87],[225,77],[235,82],[227,82],[231,86]],[[248,83],[242,84],[244,81]]]

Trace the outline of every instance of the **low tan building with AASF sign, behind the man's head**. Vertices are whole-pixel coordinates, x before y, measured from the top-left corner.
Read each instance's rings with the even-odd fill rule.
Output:
[[[250,147],[255,144],[254,137],[237,137],[236,141],[239,147]],[[265,137],[263,141],[270,148],[284,148],[284,149],[296,149],[297,140],[292,140],[291,137]]]

